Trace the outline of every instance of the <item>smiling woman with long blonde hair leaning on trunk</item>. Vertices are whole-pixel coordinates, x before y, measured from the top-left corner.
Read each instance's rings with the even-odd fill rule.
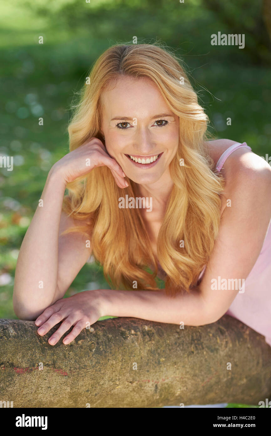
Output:
[[[271,167],[246,143],[208,141],[207,122],[164,49],[116,45],[96,61],[15,274],[17,316],[42,336],[61,322],[51,345],[105,315],[200,326],[225,313],[271,345]],[[91,254],[115,290],[63,299]]]

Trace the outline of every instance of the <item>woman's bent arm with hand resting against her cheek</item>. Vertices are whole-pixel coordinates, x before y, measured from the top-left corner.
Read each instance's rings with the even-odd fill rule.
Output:
[[[49,171],[42,203],[18,256],[13,296],[17,317],[33,320],[62,298],[90,256],[91,249],[86,248],[82,234],[60,235],[65,228],[84,224],[68,218],[61,210],[66,184],[100,166],[108,166],[119,187],[126,186],[121,167],[95,137],[65,155]]]

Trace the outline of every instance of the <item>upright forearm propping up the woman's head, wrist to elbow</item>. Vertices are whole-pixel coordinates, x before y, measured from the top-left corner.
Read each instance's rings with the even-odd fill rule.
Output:
[[[17,316],[49,306],[58,277],[58,233],[65,184],[50,170],[34,217],[22,242],[14,279]]]

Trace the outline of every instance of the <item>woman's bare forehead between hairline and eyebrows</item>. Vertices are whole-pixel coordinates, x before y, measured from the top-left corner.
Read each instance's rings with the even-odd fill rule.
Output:
[[[123,76],[102,93],[104,116],[148,116],[169,110],[157,86],[148,78]],[[121,113],[120,113],[121,111]]]

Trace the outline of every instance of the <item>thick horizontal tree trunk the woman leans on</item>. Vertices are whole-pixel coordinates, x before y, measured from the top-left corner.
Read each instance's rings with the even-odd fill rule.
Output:
[[[94,408],[271,399],[271,347],[230,316],[184,329],[108,319],[54,347],[52,330],[40,337],[33,321],[0,320],[0,401]]]

